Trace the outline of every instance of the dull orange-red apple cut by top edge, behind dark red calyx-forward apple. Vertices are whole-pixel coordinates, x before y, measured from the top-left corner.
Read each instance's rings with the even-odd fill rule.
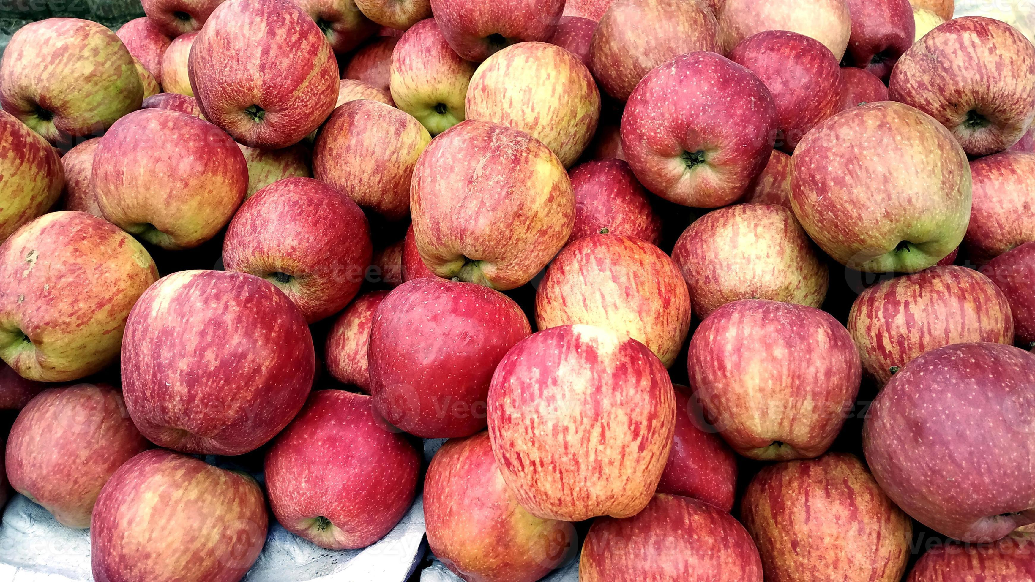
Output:
[[[651,69],[694,51],[719,52],[718,24],[703,4],[615,0],[593,32],[589,68],[609,95],[625,101]]]

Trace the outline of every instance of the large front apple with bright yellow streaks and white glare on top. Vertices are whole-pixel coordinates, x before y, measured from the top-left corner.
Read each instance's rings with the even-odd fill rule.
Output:
[[[675,430],[664,365],[639,341],[561,326],[515,345],[489,391],[503,479],[543,519],[631,517],[661,479]]]

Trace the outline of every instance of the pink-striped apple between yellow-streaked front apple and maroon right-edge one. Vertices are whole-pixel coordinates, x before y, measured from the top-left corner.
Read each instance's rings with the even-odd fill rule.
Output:
[[[690,338],[690,387],[734,451],[768,461],[822,455],[855,404],[862,368],[852,336],[812,307],[747,299]]]

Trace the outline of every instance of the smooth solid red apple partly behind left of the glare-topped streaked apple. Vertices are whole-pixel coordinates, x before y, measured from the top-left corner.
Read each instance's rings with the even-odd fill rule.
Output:
[[[485,428],[485,397],[497,364],[531,333],[521,307],[497,290],[445,279],[407,281],[374,315],[374,406],[423,438],[474,434]]]

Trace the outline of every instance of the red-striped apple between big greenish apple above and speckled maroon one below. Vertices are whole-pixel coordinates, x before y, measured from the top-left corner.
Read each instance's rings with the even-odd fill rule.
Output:
[[[965,267],[931,267],[882,281],[852,304],[848,331],[881,385],[917,356],[950,343],[1013,343],[1006,296]]]

